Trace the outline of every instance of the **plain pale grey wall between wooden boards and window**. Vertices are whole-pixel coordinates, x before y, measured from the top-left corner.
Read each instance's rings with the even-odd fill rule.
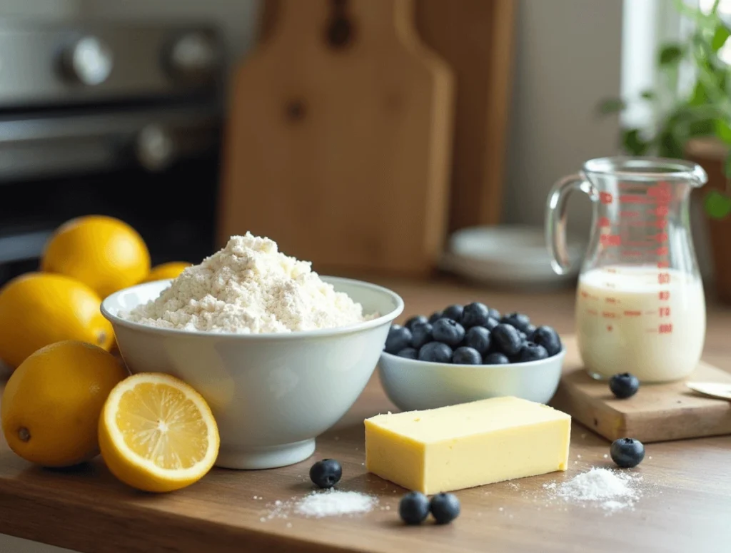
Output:
[[[555,180],[586,159],[618,153],[618,121],[599,99],[618,95],[622,2],[520,0],[516,23],[504,221],[542,225]],[[569,204],[572,228],[588,229],[587,199]]]

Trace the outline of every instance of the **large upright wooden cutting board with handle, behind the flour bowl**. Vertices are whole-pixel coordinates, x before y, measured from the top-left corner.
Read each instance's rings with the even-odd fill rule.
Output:
[[[236,71],[219,239],[250,230],[319,272],[424,274],[449,210],[452,73],[412,0],[282,0]]]

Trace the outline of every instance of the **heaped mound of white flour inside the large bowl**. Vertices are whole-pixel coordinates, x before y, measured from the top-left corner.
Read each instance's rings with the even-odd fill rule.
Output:
[[[359,303],[310,265],[280,253],[268,238],[232,236],[156,300],[120,316],[151,327],[239,334],[345,327],[374,317],[364,317]]]

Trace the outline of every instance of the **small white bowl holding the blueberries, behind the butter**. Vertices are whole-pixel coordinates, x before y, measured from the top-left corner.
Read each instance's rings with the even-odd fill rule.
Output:
[[[548,403],[561,380],[561,353],[510,365],[451,365],[383,352],[379,375],[387,396],[402,411],[433,409],[488,397],[515,396]]]

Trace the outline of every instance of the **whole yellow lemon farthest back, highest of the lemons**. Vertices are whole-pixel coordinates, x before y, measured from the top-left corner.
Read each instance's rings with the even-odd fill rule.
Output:
[[[150,253],[140,234],[123,221],[86,216],[56,229],[43,252],[41,270],[76,278],[104,299],[145,278]]]

